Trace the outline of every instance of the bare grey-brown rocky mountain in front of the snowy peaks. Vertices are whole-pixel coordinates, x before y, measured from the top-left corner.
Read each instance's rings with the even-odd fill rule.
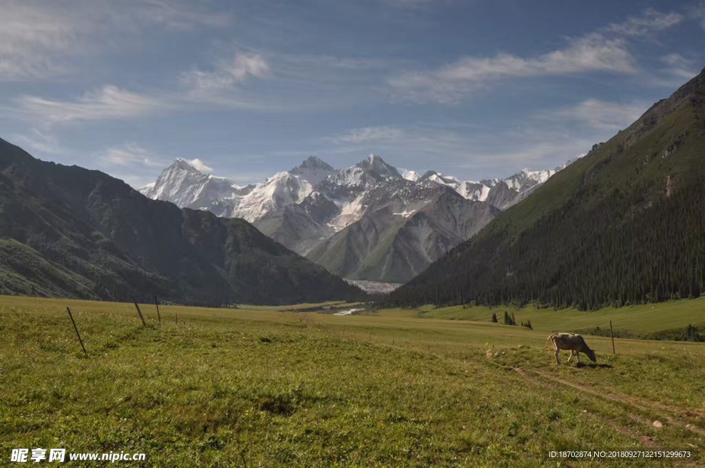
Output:
[[[448,187],[405,189],[417,193],[405,194],[412,196],[404,200],[380,196],[371,201],[359,221],[319,243],[309,259],[345,278],[405,283],[499,211]]]

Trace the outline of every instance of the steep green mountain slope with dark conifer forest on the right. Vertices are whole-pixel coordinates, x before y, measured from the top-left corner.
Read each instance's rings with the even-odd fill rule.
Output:
[[[606,304],[705,290],[705,70],[391,295]]]

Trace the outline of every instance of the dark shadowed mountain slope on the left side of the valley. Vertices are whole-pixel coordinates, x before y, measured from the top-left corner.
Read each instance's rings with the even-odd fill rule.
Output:
[[[358,291],[246,221],[181,210],[0,140],[0,293],[225,304]]]

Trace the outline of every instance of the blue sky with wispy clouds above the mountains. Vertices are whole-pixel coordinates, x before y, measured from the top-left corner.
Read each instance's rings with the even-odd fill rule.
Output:
[[[0,137],[140,187],[374,152],[553,168],[705,66],[705,2],[0,0]]]

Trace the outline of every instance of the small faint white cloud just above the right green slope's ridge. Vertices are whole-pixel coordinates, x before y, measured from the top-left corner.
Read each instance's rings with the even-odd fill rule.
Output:
[[[649,109],[648,104],[620,104],[599,99],[586,99],[576,106],[547,111],[543,116],[557,121],[577,121],[595,130],[616,133],[637,120]]]

